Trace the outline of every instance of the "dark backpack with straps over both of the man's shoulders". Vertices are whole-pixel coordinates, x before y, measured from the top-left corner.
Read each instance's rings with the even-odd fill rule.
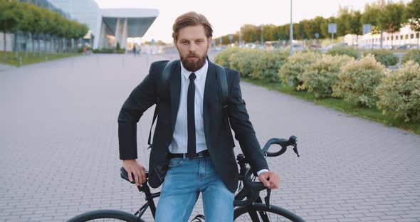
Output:
[[[157,97],[156,97],[156,107],[154,108],[154,114],[153,114],[153,120],[152,125],[150,126],[150,132],[149,132],[149,139],[147,141],[147,144],[149,145],[149,148],[152,147],[152,144],[150,143],[151,137],[152,137],[152,127],[154,125],[154,120],[156,120],[157,115],[159,113],[159,96],[164,95],[165,90],[167,90],[169,86],[169,75],[171,75],[171,70],[173,70],[174,65],[179,63],[179,59],[177,60],[171,60],[167,63],[165,66],[162,76],[160,78]],[[216,72],[219,79],[219,90],[221,95],[221,101],[223,104],[223,110],[224,110],[224,119],[227,117],[227,107],[228,107],[228,80],[226,77],[226,70],[221,65],[218,65],[216,63],[213,63],[216,65]]]

